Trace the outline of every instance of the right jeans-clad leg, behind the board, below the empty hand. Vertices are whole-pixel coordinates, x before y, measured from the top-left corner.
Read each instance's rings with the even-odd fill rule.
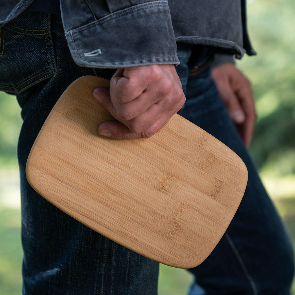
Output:
[[[206,294],[289,294],[294,271],[289,236],[210,71],[189,77],[186,97],[181,115],[224,142],[248,169],[244,197],[225,235],[204,263],[190,271]]]

